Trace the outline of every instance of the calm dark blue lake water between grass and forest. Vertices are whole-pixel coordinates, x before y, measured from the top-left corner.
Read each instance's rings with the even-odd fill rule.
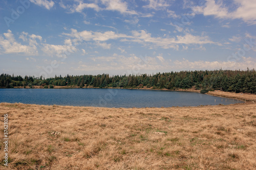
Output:
[[[216,100],[216,102],[215,102]],[[0,103],[96,107],[172,107],[228,105],[237,100],[207,94],[131,89],[0,89]],[[239,101],[239,103],[242,103]]]

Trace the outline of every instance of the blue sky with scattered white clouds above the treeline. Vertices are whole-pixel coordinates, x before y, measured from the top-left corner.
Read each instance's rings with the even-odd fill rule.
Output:
[[[256,0],[2,0],[0,72],[253,69],[255,9]]]

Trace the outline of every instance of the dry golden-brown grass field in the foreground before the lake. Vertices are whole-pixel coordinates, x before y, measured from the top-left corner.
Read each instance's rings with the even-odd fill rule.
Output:
[[[96,108],[0,104],[0,169],[255,169],[256,104]],[[52,134],[52,132],[60,132]]]

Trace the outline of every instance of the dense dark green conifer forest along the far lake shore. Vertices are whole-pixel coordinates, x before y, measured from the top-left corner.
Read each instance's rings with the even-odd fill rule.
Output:
[[[123,75],[109,76],[83,75],[65,77],[55,76],[55,78],[36,78],[31,76],[14,76],[2,74],[0,77],[0,87],[13,88],[23,86],[24,88],[33,86],[44,86],[54,88],[54,86],[73,87],[99,87],[99,88],[151,88],[154,89],[196,89],[223,90],[230,92],[256,93],[256,71],[254,69],[243,70],[201,70],[201,71],[180,71],[165,72],[154,75]]]

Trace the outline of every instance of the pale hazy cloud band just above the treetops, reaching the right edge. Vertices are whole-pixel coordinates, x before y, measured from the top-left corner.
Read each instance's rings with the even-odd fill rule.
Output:
[[[79,62],[79,65],[75,70],[88,70],[88,71],[116,71],[123,70],[125,74],[136,74],[136,70],[214,70],[214,69],[243,69],[247,67],[255,68],[256,59],[251,57],[242,57],[239,62],[235,61],[189,61],[187,59],[182,60],[164,60],[162,56],[145,57],[142,61],[140,57],[130,55],[125,56],[109,56],[109,57],[95,57],[91,58],[95,63]],[[157,62],[160,60],[161,62]],[[145,62],[144,62],[145,61]]]

